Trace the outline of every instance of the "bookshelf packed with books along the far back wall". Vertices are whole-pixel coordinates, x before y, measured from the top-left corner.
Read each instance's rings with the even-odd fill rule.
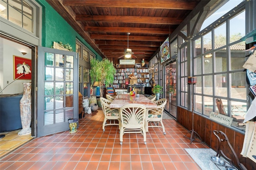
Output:
[[[137,79],[134,82],[130,82],[129,75],[134,74]],[[116,73],[114,75],[114,83],[113,87],[115,89],[125,89],[126,83],[127,84],[136,84],[136,83],[143,83],[145,86],[149,86],[149,74],[148,74],[148,68],[116,68]]]

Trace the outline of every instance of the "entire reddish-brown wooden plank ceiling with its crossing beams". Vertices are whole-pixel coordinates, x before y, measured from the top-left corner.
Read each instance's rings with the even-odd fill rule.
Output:
[[[123,55],[129,45],[129,49],[132,49],[138,59],[144,58],[146,61],[200,2],[200,0],[46,1],[102,57],[116,60]],[[127,33],[130,33],[129,37]]]

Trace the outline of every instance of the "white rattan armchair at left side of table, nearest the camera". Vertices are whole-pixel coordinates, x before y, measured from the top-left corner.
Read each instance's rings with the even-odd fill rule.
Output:
[[[120,128],[119,109],[110,108],[109,104],[111,103],[111,101],[109,101],[108,99],[105,99],[104,97],[100,97],[100,102],[102,106],[102,111],[104,113],[104,121],[102,123],[103,132],[105,131],[105,126],[108,126],[108,125],[118,125],[118,128]],[[109,124],[106,124],[107,120],[109,120]],[[116,121],[118,121],[118,123],[116,123]]]

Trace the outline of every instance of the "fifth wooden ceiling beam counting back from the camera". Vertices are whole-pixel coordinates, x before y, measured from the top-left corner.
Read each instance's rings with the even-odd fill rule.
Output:
[[[95,40],[95,43],[98,45],[127,45],[126,41],[111,41],[111,40]],[[146,46],[146,47],[160,47],[160,42],[138,42],[130,41],[129,44],[133,46]]]

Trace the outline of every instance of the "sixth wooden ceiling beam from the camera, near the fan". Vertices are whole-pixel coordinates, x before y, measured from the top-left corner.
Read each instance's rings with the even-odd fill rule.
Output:
[[[127,45],[99,45],[99,49],[126,49]],[[132,50],[145,50],[145,51],[156,51],[159,47],[146,47],[146,46],[131,46],[129,48]]]

